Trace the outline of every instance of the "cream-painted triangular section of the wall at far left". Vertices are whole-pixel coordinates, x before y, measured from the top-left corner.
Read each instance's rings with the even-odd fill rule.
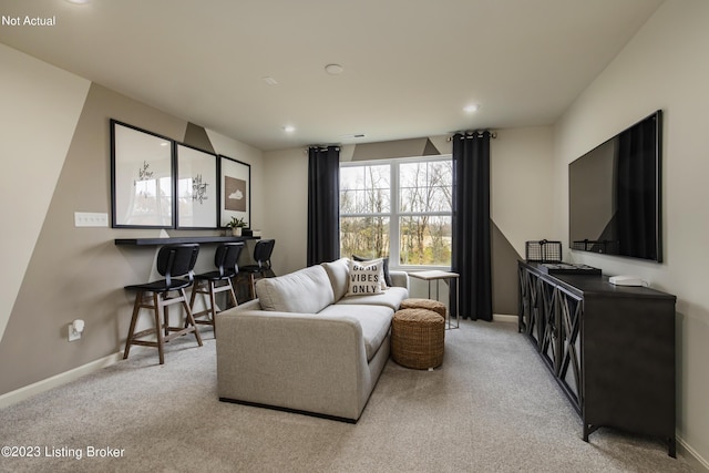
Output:
[[[4,44],[0,64],[1,340],[91,83]]]

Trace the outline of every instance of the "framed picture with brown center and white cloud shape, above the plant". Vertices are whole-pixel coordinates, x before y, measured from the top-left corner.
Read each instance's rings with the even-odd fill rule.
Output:
[[[227,156],[219,156],[222,205],[219,224],[226,227],[232,217],[251,223],[251,166]]]

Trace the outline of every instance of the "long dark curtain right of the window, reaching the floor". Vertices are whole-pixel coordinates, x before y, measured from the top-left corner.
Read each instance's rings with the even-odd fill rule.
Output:
[[[492,320],[490,132],[453,136],[452,270],[460,275],[460,317]],[[451,290],[451,308],[455,290]]]

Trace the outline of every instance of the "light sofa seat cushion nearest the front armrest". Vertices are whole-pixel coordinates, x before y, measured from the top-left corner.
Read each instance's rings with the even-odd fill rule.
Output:
[[[394,311],[386,306],[335,305],[326,307],[319,315],[357,319],[362,328],[367,361],[370,361],[389,335]]]

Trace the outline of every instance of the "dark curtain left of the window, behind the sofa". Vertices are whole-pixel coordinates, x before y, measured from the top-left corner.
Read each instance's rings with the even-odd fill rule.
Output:
[[[340,257],[340,148],[308,150],[308,266]]]

